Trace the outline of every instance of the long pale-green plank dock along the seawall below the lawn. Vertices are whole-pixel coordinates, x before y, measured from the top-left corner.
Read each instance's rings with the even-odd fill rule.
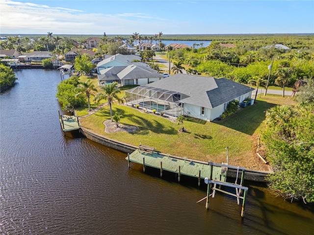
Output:
[[[170,157],[162,155],[156,152],[145,151],[137,149],[128,155],[126,160],[130,162],[142,164],[143,171],[145,166],[150,166],[160,169],[160,176],[162,171],[170,171],[178,174],[178,181],[180,181],[180,175],[187,175],[199,179],[210,177],[211,164],[195,162],[193,160],[185,158]],[[212,179],[217,181],[226,182],[227,167],[212,165]]]

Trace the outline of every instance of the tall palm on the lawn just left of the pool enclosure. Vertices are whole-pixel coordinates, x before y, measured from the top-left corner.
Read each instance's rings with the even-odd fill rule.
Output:
[[[123,100],[118,96],[118,94],[120,94],[121,91],[120,89],[116,89],[117,85],[118,85],[117,82],[106,83],[104,86],[100,87],[104,92],[98,93],[94,97],[96,101],[100,101],[102,99],[108,100],[111,121],[112,121],[112,103],[115,100],[117,100],[118,102],[123,102]]]

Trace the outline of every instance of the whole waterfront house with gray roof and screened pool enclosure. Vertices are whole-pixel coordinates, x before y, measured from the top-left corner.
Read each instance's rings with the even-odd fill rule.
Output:
[[[125,93],[129,105],[139,104],[172,117],[186,115],[212,121],[222,115],[230,101],[251,98],[253,90],[226,78],[177,73]]]

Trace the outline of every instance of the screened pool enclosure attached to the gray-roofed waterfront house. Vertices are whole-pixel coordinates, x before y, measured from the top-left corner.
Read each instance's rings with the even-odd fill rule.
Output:
[[[171,117],[183,114],[182,99],[189,96],[150,86],[139,86],[125,92],[128,105],[139,105],[148,110],[157,110]]]

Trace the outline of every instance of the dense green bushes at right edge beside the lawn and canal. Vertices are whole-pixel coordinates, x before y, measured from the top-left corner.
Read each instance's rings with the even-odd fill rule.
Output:
[[[266,113],[262,140],[274,170],[270,187],[285,198],[314,202],[314,81],[296,95],[298,105],[275,106]]]

